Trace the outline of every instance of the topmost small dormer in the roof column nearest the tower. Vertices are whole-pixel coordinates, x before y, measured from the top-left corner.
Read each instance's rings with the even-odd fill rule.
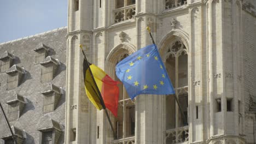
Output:
[[[49,47],[44,45],[43,43],[40,43],[36,46],[36,63],[40,63],[44,61],[44,58],[48,56]]]

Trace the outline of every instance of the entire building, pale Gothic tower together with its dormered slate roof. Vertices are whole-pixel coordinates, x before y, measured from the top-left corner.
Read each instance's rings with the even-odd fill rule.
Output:
[[[254,0],[68,0],[67,28],[0,44],[0,101],[18,143],[256,143],[255,7]],[[147,26],[176,94],[131,100],[120,84],[114,138],[106,113],[86,97],[79,45],[119,81],[115,65],[152,44]],[[13,142],[2,117],[0,137]]]

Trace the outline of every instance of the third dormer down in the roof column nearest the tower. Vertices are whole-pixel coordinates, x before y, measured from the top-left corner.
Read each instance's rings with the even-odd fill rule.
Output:
[[[60,88],[51,84],[44,89],[44,92],[41,93],[44,95],[43,112],[53,112],[61,98]]]

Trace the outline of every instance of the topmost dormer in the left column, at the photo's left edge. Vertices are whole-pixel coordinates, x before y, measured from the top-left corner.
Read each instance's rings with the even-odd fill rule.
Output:
[[[1,72],[8,70],[13,65],[14,56],[11,55],[8,51],[5,51],[1,57]]]

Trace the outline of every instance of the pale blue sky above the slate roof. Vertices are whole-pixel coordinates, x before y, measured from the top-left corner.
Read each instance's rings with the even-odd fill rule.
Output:
[[[67,26],[67,0],[0,0],[0,43]]]

